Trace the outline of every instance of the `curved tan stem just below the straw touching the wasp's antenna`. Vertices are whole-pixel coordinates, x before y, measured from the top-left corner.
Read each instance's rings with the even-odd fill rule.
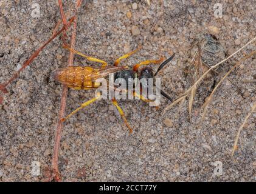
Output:
[[[204,120],[205,116],[206,116],[206,111],[207,111],[207,108],[210,104],[210,101],[212,100],[212,96],[213,94],[215,93],[216,89],[218,89],[218,87],[220,87],[221,83],[224,81],[224,79],[227,78],[227,76],[229,76],[229,74],[231,72],[233,72],[240,64],[241,62],[245,61],[246,59],[250,58],[252,55],[255,55],[256,54],[256,51],[254,52],[251,52],[249,55],[245,56],[243,59],[240,59],[240,61],[237,62],[237,64],[235,64],[232,69],[229,70],[229,72],[226,73],[226,75],[223,76],[223,78],[221,78],[220,82],[218,82],[218,84],[215,86],[215,88],[212,90],[212,93],[210,93],[210,96],[207,98],[207,101],[204,102],[204,105],[202,105],[202,107],[204,107],[204,112],[202,113],[202,118],[201,118],[201,122]]]

